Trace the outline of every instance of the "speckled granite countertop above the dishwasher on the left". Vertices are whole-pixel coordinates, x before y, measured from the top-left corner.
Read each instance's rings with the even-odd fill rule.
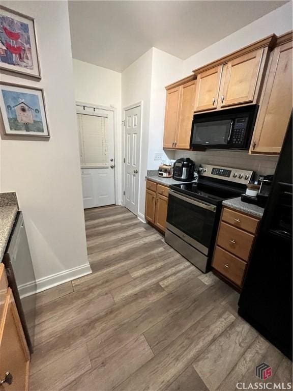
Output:
[[[16,193],[0,193],[0,262],[4,256],[17,212]]]

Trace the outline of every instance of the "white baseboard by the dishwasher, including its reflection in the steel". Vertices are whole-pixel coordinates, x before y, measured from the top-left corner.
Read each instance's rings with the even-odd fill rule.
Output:
[[[61,271],[59,273],[48,275],[47,277],[39,278],[39,280],[36,281],[37,293],[91,273],[91,266],[89,263],[86,263],[84,265],[74,267],[69,270]],[[34,282],[20,285],[18,287],[19,296],[22,298],[32,295],[34,293],[34,285]]]

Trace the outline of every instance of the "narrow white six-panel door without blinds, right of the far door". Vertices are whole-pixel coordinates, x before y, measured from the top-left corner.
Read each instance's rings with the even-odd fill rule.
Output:
[[[140,106],[124,111],[124,203],[137,215],[140,161]]]

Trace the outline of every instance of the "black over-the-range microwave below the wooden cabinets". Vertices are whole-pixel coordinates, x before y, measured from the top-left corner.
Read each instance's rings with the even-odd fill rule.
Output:
[[[249,149],[258,105],[195,114],[190,147]]]

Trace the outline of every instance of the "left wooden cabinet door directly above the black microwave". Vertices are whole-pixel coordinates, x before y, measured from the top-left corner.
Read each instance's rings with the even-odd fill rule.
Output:
[[[194,111],[217,108],[222,66],[199,73],[196,81]]]

